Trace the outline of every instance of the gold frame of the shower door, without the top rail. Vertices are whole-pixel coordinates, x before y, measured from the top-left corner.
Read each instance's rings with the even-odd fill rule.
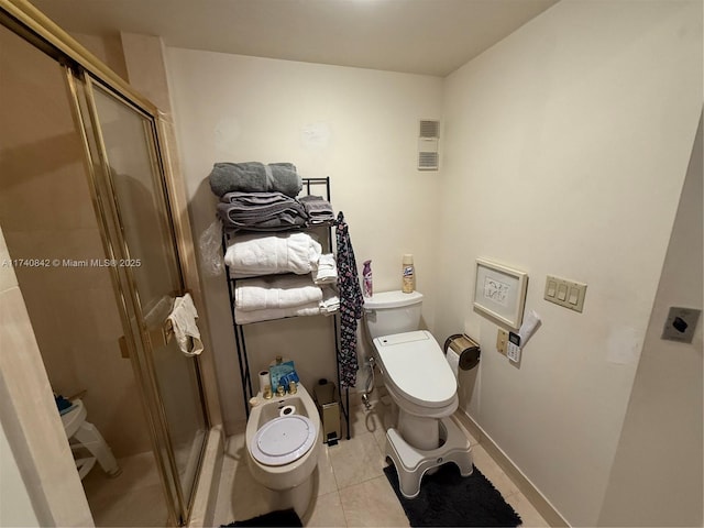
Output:
[[[147,140],[146,146],[153,178],[152,183],[154,184],[153,190],[157,195],[155,207],[161,209],[157,212],[161,213],[160,217],[162,219],[170,219],[167,190],[164,185],[164,170],[158,151],[157,128],[151,116],[120,95],[114,94],[108,86],[100,84],[99,80],[85,72],[74,73],[70,67],[66,67],[66,79],[74,101],[76,122],[81,131],[86,148],[88,174],[91,179],[90,187],[94,195],[94,205],[100,220],[103,246],[106,248],[108,260],[112,261],[108,267],[111,271],[116,298],[119,299],[122,324],[125,331],[122,343],[123,353],[129,355],[132,361],[134,375],[142,392],[154,455],[166,493],[169,521],[183,525],[189,518],[196,482],[195,479],[190,482],[184,482],[179,477],[182,472],[173,449],[174,435],[172,427],[169,427],[169,414],[162,397],[165,388],[164,381],[160,386],[158,367],[155,364],[155,355],[160,353],[160,349],[168,345],[172,349],[175,348],[173,341],[170,343],[167,342],[167,332],[163,329],[174,298],[184,293],[184,279],[178,266],[175,233],[172,223],[167,222],[166,232],[164,233],[166,240],[163,242],[167,245],[165,250],[172,258],[167,258],[164,264],[172,267],[172,270],[165,268],[164,274],[172,276],[172,287],[163,292],[165,295],[162,300],[166,301],[166,308],[151,310],[156,311],[156,314],[154,317],[150,317],[148,314],[145,314],[145,304],[148,304],[150,299],[145,298],[146,296],[144,295],[140,295],[140,280],[135,276],[139,267],[147,264],[147,262],[141,262],[140,255],[131,251],[130,241],[128,240],[130,229],[127,227],[129,219],[128,215],[122,211],[125,204],[121,205],[119,199],[119,179],[127,176],[116,174],[111,167],[97,99],[103,98],[103,100],[113,101],[124,108],[131,116],[136,116],[142,120],[142,130]],[[151,141],[148,141],[150,139]],[[178,350],[172,350],[170,352],[178,354]],[[208,420],[204,391],[200,386],[198,360],[194,358],[190,362],[193,362],[195,370],[197,394],[200,398],[199,408],[204,417],[202,429],[205,431],[208,428]],[[204,449],[205,436],[200,439],[195,475],[199,473]]]

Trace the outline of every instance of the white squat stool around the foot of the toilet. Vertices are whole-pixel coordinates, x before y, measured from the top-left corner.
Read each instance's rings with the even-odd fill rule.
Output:
[[[449,417],[441,418],[440,422],[447,432],[446,441],[427,451],[410,446],[396,429],[386,431],[386,457],[394,462],[398,487],[406,498],[417,497],[422,475],[447,462],[454,462],[462,476],[470,476],[474,471],[470,441]]]

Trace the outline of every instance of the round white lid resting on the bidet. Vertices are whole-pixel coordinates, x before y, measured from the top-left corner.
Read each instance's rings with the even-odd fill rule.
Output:
[[[256,431],[252,457],[266,465],[288,464],[308,452],[316,436],[316,427],[307,416],[279,416]]]

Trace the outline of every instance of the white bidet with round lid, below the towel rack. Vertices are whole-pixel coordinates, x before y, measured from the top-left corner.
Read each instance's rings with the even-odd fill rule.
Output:
[[[322,444],[318,409],[301,384],[296,394],[264,399],[260,393],[256,402],[246,422],[248,465],[267,491],[270,510],[294,508],[302,519]]]

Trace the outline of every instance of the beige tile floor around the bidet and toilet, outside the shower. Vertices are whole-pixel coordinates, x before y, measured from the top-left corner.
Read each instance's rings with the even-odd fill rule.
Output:
[[[319,527],[402,527],[408,519],[394,490],[384,475],[385,431],[381,415],[384,406],[365,411],[351,409],[352,438],[320,451],[314,505],[302,519],[305,526]],[[461,427],[461,426],[460,426]],[[464,428],[462,428],[464,430]],[[466,431],[465,431],[466,432]],[[516,485],[506,476],[481,444],[468,432],[474,464],[520,515],[526,527],[548,527]],[[244,424],[228,438],[213,525],[244,520],[266,513],[261,487],[246,465]]]

